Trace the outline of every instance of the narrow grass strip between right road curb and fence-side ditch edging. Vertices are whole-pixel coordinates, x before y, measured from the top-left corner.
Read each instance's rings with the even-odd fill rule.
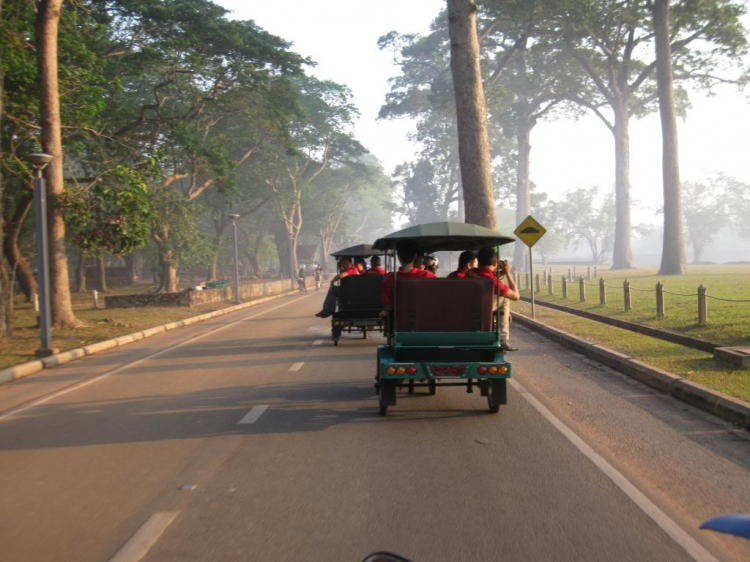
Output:
[[[531,316],[531,305],[525,302],[513,303],[511,310]],[[536,317],[592,343],[750,402],[750,371],[724,367],[708,353],[548,308],[537,307]]]

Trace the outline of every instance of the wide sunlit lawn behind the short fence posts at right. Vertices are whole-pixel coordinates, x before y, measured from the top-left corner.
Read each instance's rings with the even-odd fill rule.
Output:
[[[568,283],[568,298],[562,298],[561,275],[567,268],[553,269],[553,296],[542,287],[539,300],[580,308],[638,322],[657,328],[666,328],[686,335],[705,338],[726,345],[750,346],[750,265],[689,266],[687,275],[657,275],[657,268],[640,268],[627,272],[599,268],[599,276],[607,285],[607,304],[599,303],[599,280],[586,280],[586,302],[579,301],[578,281]],[[540,271],[541,273],[541,271]],[[578,267],[578,275],[586,275],[585,267]],[[522,274],[523,276],[523,274]],[[633,309],[624,311],[622,283],[630,281]],[[708,325],[698,325],[697,296],[681,297],[665,294],[665,317],[656,317],[657,282],[672,293],[695,295],[699,285],[707,289],[709,297],[745,300],[748,302],[722,302],[708,299]],[[524,285],[525,287],[525,285]],[[636,290],[639,289],[639,290]],[[643,292],[647,291],[647,292]],[[523,290],[525,296],[529,291]]]

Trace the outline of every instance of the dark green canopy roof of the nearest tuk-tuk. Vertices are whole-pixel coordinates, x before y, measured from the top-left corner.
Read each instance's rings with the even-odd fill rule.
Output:
[[[418,224],[392,232],[379,238],[374,248],[387,250],[399,240],[411,239],[416,242],[421,252],[476,250],[483,246],[510,244],[516,239],[500,234],[477,224],[465,222],[431,222]]]

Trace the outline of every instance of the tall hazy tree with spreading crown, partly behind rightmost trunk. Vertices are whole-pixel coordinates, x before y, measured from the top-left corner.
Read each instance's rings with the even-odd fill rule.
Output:
[[[614,138],[617,218],[613,269],[633,267],[630,120],[654,111],[658,97],[657,63],[647,55],[654,39],[651,2],[568,0],[559,4],[553,29],[598,91],[597,98],[579,96],[574,101],[593,111]],[[708,88],[732,81],[715,71],[727,61],[741,62],[747,44],[740,19],[744,13],[744,5],[734,0],[675,2],[669,35],[675,80],[690,80]],[[686,92],[675,93],[684,107]],[[610,116],[604,107],[609,108]]]

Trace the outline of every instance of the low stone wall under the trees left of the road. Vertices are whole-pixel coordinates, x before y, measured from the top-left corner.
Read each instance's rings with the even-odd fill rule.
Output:
[[[314,287],[315,278],[307,278],[307,287]],[[295,280],[295,288],[297,282]],[[275,281],[255,281],[243,283],[240,294],[243,301],[268,295],[278,295],[291,289],[289,279]],[[234,300],[234,287],[205,289],[203,291],[180,291],[179,293],[143,293],[139,295],[111,295],[104,297],[105,308],[140,308],[143,306],[185,306],[194,308],[204,304],[222,303]]]

